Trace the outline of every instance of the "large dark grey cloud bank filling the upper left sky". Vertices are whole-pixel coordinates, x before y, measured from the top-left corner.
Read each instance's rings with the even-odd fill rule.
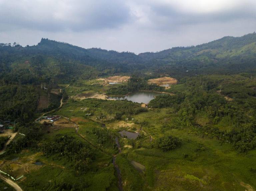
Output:
[[[132,17],[119,0],[1,0],[0,23],[9,28],[84,31],[120,27]]]

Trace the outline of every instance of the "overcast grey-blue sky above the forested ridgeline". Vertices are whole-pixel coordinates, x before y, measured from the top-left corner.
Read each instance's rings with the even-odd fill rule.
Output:
[[[135,53],[256,31],[256,0],[0,0],[0,43]]]

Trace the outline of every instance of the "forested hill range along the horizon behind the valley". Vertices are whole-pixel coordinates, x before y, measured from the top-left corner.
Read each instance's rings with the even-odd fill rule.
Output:
[[[70,81],[142,70],[179,77],[253,71],[255,60],[255,33],[138,55],[41,39],[38,45],[30,47],[0,44],[0,71],[3,71],[0,79],[4,83],[38,83],[38,79]]]

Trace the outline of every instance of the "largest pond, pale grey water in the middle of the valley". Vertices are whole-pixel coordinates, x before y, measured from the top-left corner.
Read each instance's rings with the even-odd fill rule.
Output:
[[[163,95],[163,93],[158,93],[153,91],[137,91],[137,92],[132,92],[126,96],[109,97],[109,98],[115,99],[115,100],[127,99],[128,101],[132,101],[132,102],[148,104],[152,99],[155,99],[155,96],[158,96],[158,95]]]

